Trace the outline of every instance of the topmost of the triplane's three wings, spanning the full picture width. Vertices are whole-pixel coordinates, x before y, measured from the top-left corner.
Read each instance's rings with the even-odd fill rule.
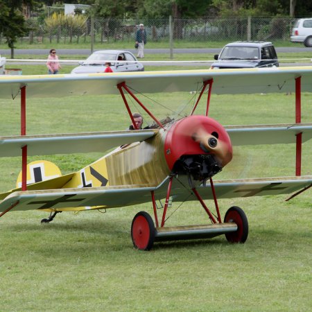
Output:
[[[117,85],[123,82],[133,92],[191,92],[209,79],[214,80],[215,94],[293,92],[298,77],[302,92],[312,92],[312,67],[3,76],[0,97],[15,98],[23,86],[27,87],[27,97],[119,94]]]

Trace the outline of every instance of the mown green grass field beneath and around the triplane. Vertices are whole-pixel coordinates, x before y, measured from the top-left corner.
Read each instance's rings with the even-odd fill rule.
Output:
[[[184,114],[193,103],[191,94],[147,96],[153,101],[142,101],[157,116]],[[31,99],[27,106],[28,134],[122,130],[129,123],[119,96]],[[0,135],[19,135],[19,101],[0,100],[0,112]],[[213,94],[209,114],[224,125],[293,123],[295,95]],[[302,122],[311,122],[311,116],[312,95],[303,94]],[[293,145],[244,147],[234,153],[233,164],[216,178],[295,171]],[[69,173],[100,156],[44,159]],[[302,162],[302,174],[312,175],[311,141],[303,146]],[[18,157],[0,159],[0,192],[15,187],[19,170]],[[150,252],[134,250],[130,238],[133,216],[141,210],[151,213],[150,204],[105,214],[62,213],[50,224],[40,223],[47,216],[43,212],[8,213],[0,219],[0,311],[310,311],[312,190],[289,202],[286,197],[220,200],[222,216],[233,205],[247,214],[250,234],[243,245],[219,236],[155,243]],[[204,218],[197,203],[189,202],[168,225],[198,224]]]

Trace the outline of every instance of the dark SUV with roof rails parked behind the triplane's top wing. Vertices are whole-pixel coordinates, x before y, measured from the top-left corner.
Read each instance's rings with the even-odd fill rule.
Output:
[[[211,69],[278,67],[279,61],[271,42],[237,41],[227,44],[220,54],[214,55],[218,62]]]

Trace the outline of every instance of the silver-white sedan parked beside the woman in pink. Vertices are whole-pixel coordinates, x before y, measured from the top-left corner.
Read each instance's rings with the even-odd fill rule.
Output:
[[[143,64],[137,61],[135,55],[129,51],[104,50],[96,51],[84,62],[79,62],[78,67],[71,73],[103,73],[105,62],[110,62],[110,68],[114,72],[121,71],[144,71]]]

